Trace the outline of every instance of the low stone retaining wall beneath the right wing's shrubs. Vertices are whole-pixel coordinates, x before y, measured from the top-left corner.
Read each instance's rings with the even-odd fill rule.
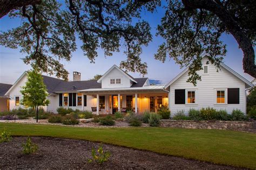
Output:
[[[161,120],[161,127],[185,128],[185,129],[228,129],[249,130],[255,129],[256,122],[241,121],[176,121]]]

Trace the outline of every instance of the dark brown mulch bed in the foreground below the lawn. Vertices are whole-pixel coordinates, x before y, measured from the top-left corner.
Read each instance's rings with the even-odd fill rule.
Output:
[[[0,169],[6,168],[70,168],[70,169],[236,169],[231,166],[171,157],[148,151],[104,144],[111,152],[103,164],[89,163],[91,148],[99,143],[85,140],[31,137],[39,150],[23,155],[21,144],[26,137],[13,137],[10,143],[0,143]]]

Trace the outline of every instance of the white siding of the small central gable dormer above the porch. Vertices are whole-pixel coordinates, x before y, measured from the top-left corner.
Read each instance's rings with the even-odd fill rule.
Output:
[[[110,84],[110,79],[121,79],[120,84]],[[117,68],[113,68],[103,79],[102,88],[129,88],[132,82]]]

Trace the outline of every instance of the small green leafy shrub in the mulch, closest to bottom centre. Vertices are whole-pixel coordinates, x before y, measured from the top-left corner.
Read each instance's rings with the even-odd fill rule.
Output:
[[[96,161],[99,164],[102,164],[103,162],[109,160],[109,157],[111,155],[109,151],[106,151],[106,152],[103,151],[102,144],[99,145],[98,149],[92,147],[91,154],[92,154],[92,159],[89,159],[88,162],[91,163],[93,161]]]

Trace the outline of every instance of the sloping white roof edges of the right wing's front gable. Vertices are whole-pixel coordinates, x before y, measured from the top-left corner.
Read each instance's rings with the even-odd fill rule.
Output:
[[[204,53],[202,54],[203,58],[209,56],[209,54]],[[230,67],[228,67],[227,65],[225,65],[223,62],[220,63],[220,66],[223,67],[224,69],[226,69],[228,72],[232,73],[234,76],[238,77],[238,79],[240,79],[241,81],[243,81],[245,84],[247,84],[249,87],[253,87],[253,83],[251,83],[250,81],[248,81],[247,79],[245,79],[243,76],[241,76],[240,74],[238,74],[237,72],[235,72],[233,69],[231,69]],[[184,75],[186,72],[188,71],[188,67],[186,69],[184,69],[180,74],[178,74],[176,77],[174,77],[174,79],[172,79],[169,83],[167,83],[165,85],[165,89],[167,87],[169,87],[173,82],[175,82],[177,79],[179,79],[179,77],[181,77],[182,75]]]

